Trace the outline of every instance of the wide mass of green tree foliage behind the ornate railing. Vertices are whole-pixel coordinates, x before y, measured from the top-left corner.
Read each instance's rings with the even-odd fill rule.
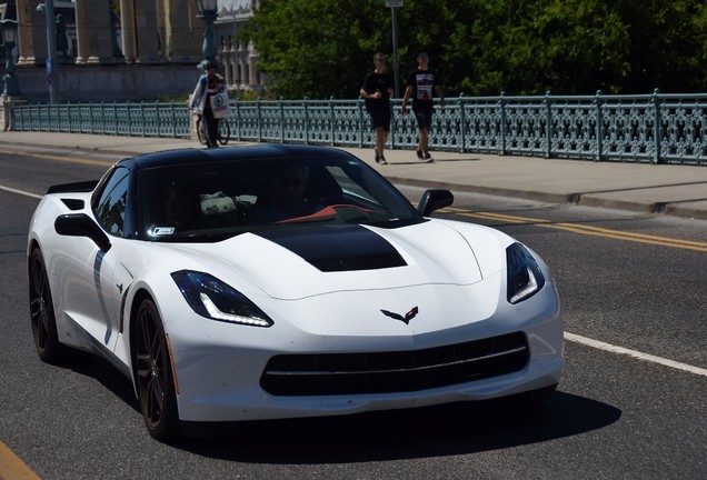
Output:
[[[376,51],[392,73],[385,0],[261,0],[246,38],[269,91],[356,98]],[[448,97],[700,91],[707,81],[701,0],[405,0],[400,81],[420,49]],[[400,91],[402,91],[400,84]]]

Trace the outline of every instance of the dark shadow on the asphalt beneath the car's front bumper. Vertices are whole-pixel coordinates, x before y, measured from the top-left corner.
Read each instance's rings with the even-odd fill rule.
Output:
[[[412,410],[242,422],[238,433],[188,439],[173,447],[220,460],[319,464],[446,457],[538,443],[597,430],[620,410],[556,392],[542,406],[519,399]]]

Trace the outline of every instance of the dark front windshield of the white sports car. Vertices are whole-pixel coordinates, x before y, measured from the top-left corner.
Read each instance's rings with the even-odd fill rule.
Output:
[[[320,222],[424,221],[375,170],[343,153],[150,168],[138,176],[138,199],[140,237],[150,241],[219,241]]]

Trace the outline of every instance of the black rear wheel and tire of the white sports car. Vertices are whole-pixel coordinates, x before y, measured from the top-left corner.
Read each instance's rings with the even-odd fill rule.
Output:
[[[29,304],[32,337],[39,358],[47,363],[64,360],[67,348],[59,343],[49,277],[39,248],[32,250],[29,259]]]

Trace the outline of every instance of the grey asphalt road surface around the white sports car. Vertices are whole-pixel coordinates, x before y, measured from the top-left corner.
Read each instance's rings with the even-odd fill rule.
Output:
[[[707,222],[472,194],[444,214],[526,242],[559,286],[567,363],[547,406],[484,402],[255,422],[231,438],[171,446],[151,440],[128,380],[90,356],[42,363],[29,328],[32,196],[96,178],[110,161],[0,154],[0,442],[37,476],[705,478]]]

